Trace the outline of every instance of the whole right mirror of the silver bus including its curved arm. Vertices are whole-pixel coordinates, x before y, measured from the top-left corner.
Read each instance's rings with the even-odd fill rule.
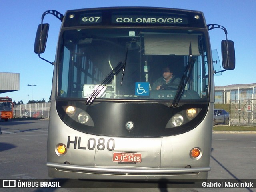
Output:
[[[234,42],[228,40],[228,31],[224,26],[217,25],[217,24],[208,24],[208,31],[215,29],[215,28],[220,28],[224,30],[226,40],[222,40],[221,42],[221,51],[222,51],[222,67],[225,70],[219,71],[224,72],[226,70],[233,70],[236,66],[236,58],[235,58],[235,48],[234,48]]]

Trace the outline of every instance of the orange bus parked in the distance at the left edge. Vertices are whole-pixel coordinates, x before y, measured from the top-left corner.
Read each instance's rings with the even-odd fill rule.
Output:
[[[10,97],[0,97],[1,119],[8,121],[13,118],[13,103]]]

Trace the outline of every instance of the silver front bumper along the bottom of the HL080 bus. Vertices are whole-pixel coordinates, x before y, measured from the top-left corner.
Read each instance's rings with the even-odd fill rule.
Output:
[[[49,176],[82,179],[207,179],[210,167],[199,168],[146,168],[146,167],[89,167],[47,163]]]

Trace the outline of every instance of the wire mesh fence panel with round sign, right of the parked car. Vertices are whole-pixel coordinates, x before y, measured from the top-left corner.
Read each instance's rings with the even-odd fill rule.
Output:
[[[256,126],[256,99],[230,100],[230,125]]]

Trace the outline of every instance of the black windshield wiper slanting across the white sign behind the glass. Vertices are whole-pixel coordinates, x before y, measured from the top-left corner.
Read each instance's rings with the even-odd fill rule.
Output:
[[[96,97],[98,96],[98,94],[104,89],[104,87],[110,83],[110,81],[114,78],[114,76],[116,74],[118,74],[123,66],[125,65],[125,62],[119,62],[115,68],[106,76],[106,78],[100,83],[100,85],[94,90],[94,92],[92,92],[91,96],[86,100],[86,105],[91,105],[94,100],[96,99]]]

